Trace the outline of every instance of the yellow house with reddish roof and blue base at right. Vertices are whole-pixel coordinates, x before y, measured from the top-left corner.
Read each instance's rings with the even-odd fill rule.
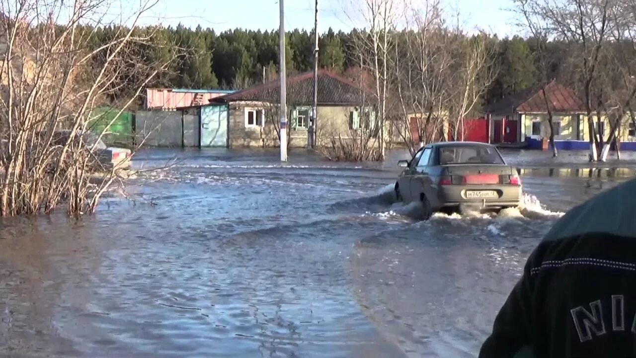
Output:
[[[588,149],[583,101],[574,90],[555,80],[544,89],[545,96],[542,87],[536,86],[487,106],[485,113],[490,123],[490,142],[541,148],[544,139],[550,137],[547,97],[557,148]]]

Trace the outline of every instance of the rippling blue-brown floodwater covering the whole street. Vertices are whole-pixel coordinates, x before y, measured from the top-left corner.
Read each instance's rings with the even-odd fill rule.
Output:
[[[141,153],[171,165],[93,217],[1,221],[0,356],[476,357],[550,225],[636,173],[630,154],[504,156],[523,208],[417,222],[392,199],[403,152]]]

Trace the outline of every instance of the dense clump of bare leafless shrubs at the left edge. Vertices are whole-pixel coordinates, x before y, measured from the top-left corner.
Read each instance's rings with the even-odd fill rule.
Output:
[[[144,66],[135,51],[135,44],[149,43],[152,36],[135,29],[152,1],[135,11],[130,27],[113,27],[110,41],[90,46],[95,29],[105,25],[98,14],[109,3],[0,0],[5,48],[0,57],[0,215],[49,213],[59,203],[67,203],[71,215],[93,212],[117,180],[118,168],[94,175],[93,169],[104,168],[95,168],[97,142],[85,140],[89,113],[123,87],[129,106],[165,64]],[[61,143],[55,138],[60,129],[68,133]]]

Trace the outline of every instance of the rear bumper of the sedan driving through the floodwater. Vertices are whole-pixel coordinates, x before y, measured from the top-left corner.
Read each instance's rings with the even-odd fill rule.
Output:
[[[471,190],[492,190],[497,197],[466,197],[466,192]],[[440,207],[472,204],[482,208],[504,208],[518,206],[522,202],[520,185],[448,185],[440,186],[438,193]]]

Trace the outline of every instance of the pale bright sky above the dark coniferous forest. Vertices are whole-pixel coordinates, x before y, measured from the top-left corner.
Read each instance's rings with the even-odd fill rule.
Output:
[[[129,1],[129,4],[139,0]],[[145,15],[141,23],[211,27],[217,32],[241,27],[243,29],[271,30],[279,27],[278,0],[158,0],[158,4]],[[349,11],[352,1],[319,0],[318,31],[329,27],[335,31],[349,31],[353,27]],[[284,0],[286,30],[314,27],[315,0]],[[480,28],[500,36],[518,33],[518,22],[509,10],[512,0],[450,0],[449,10],[459,9],[467,30]],[[454,11],[453,11],[454,13]]]

